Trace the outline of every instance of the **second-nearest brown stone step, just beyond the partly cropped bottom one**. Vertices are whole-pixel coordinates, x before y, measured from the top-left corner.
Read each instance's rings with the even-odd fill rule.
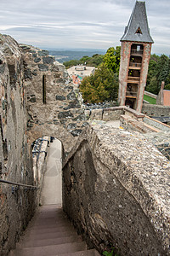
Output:
[[[85,251],[87,249],[86,243],[71,242],[59,245],[50,245],[45,247],[29,247],[18,249],[14,251],[14,256],[52,256],[63,253],[75,253],[78,251]],[[69,254],[68,254],[69,255]]]

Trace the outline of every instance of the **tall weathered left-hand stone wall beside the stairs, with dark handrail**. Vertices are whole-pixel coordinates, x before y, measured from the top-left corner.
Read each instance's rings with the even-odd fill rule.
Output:
[[[27,147],[23,54],[0,35],[0,178],[33,184]],[[35,212],[36,190],[0,183],[0,255],[7,255]]]

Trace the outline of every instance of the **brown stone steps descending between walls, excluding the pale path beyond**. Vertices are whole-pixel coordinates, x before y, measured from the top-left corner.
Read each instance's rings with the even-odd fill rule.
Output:
[[[16,249],[8,256],[75,255],[99,256],[95,250],[88,250],[85,241],[57,205],[42,206],[32,218],[24,236],[20,237]]]

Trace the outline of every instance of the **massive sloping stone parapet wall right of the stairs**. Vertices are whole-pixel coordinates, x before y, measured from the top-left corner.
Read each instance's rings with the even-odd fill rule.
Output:
[[[63,166],[63,205],[89,247],[170,255],[170,163],[141,134],[90,125]]]

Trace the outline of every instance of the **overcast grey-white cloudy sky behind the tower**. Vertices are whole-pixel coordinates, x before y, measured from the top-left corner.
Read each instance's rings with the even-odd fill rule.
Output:
[[[120,44],[135,0],[0,0],[0,33],[60,49]],[[170,55],[170,0],[146,0],[152,53]]]

